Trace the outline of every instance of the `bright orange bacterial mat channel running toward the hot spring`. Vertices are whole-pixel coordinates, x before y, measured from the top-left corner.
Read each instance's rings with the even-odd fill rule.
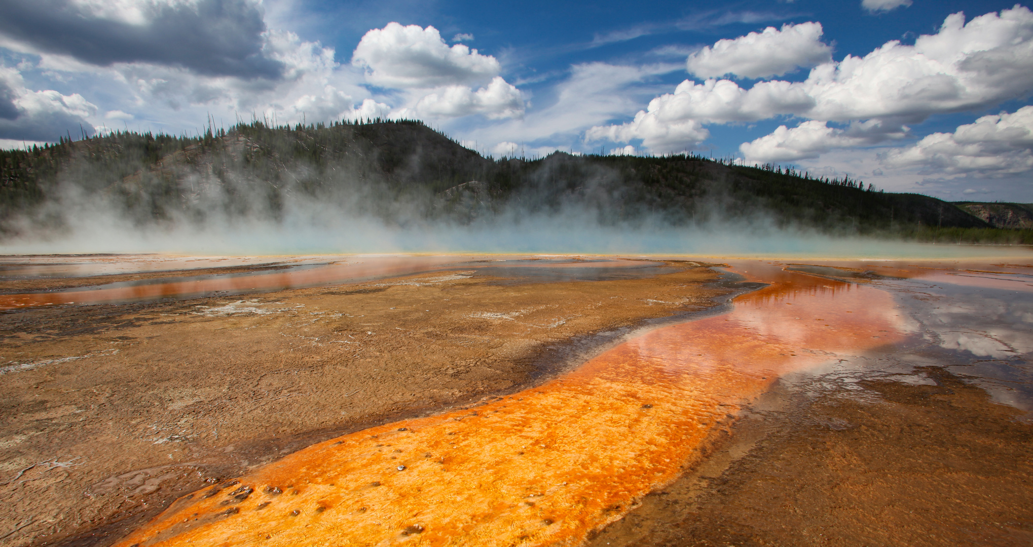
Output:
[[[725,315],[494,403],[346,435],[184,496],[118,545],[578,545],[779,375],[899,341],[881,290],[761,262]]]

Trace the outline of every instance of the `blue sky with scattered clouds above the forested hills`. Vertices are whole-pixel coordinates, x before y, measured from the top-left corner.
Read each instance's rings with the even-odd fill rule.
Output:
[[[691,151],[1033,201],[1033,12],[1013,2],[4,4],[8,148],[380,116],[496,156]]]

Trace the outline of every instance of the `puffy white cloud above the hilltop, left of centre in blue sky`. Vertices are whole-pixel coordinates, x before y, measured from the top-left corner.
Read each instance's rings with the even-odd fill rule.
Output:
[[[370,83],[387,88],[438,88],[479,84],[500,71],[499,62],[462,43],[449,46],[438,29],[388,23],[363,36],[351,57]]]

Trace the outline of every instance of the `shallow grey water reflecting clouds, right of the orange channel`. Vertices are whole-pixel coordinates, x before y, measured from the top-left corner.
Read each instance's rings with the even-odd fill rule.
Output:
[[[913,335],[886,351],[844,359],[812,374],[841,383],[874,377],[912,381],[909,376],[922,382],[925,375],[917,368],[943,367],[984,389],[995,403],[1023,410],[1025,419],[1033,420],[1031,268],[961,266],[893,266],[881,271],[895,277],[868,277],[873,287],[894,295]],[[837,275],[833,268],[810,270]]]

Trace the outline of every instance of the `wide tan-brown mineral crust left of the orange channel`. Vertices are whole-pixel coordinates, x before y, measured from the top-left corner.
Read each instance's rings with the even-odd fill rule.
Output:
[[[0,314],[0,529],[15,530],[0,542],[108,544],[206,483],[534,385],[615,341],[593,333],[727,293],[703,287],[714,270],[670,264],[684,269],[544,284],[443,271]]]

